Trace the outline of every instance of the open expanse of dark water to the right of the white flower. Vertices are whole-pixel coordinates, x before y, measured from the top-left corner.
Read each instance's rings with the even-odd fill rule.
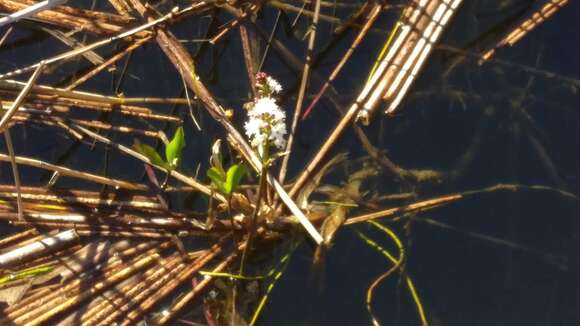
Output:
[[[460,47],[481,33],[487,23],[501,16],[493,7],[491,2],[465,3],[444,43]],[[459,158],[481,137],[461,176],[427,191],[431,195],[497,183],[542,184],[578,193],[578,13],[578,3],[570,3],[514,48],[500,51],[497,59],[501,62],[479,67],[467,60],[445,78],[441,72],[449,52],[435,51],[400,114],[367,129],[371,139],[382,142],[389,157],[404,167],[450,171],[460,166]],[[372,58],[377,44],[380,41],[363,44],[358,62],[364,62],[365,56]],[[344,75],[356,75],[361,66],[351,65],[352,70]],[[547,78],[531,73],[532,69],[555,76]],[[576,86],[559,80],[560,76],[574,79]],[[449,96],[452,90],[465,93],[463,103]],[[491,116],[484,114],[486,110]],[[317,122],[309,121],[303,129],[308,124],[315,128]],[[344,138],[348,139],[343,139],[342,146],[360,153],[353,134]],[[534,144],[534,138],[541,146]],[[384,179],[375,186],[390,189],[391,183]],[[522,191],[476,196],[416,216],[407,271],[431,323],[580,323],[579,213],[577,201]],[[421,218],[456,229],[421,222]],[[389,244],[377,233],[373,238]],[[390,266],[383,257],[363,245],[354,232],[343,230],[327,259],[323,293],[309,283],[309,259],[309,250],[303,250],[286,272],[265,324],[370,324],[364,305],[366,289]],[[375,295],[374,308],[384,325],[420,324],[397,276],[387,279]]]

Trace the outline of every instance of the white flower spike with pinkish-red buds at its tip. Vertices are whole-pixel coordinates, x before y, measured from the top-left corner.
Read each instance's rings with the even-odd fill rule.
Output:
[[[252,146],[260,155],[268,145],[283,149],[286,145],[286,113],[276,103],[274,95],[282,86],[264,72],[256,75],[256,98],[248,110],[248,121],[244,127]]]

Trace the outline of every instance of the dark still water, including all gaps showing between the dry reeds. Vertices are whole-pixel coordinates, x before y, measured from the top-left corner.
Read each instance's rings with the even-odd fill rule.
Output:
[[[86,3],[85,3],[86,4]],[[76,5],[76,2],[71,2]],[[461,8],[443,43],[462,48],[506,13],[500,1],[468,1]],[[274,15],[271,9],[265,11]],[[346,12],[338,11],[337,14]],[[571,2],[553,19],[541,25],[513,48],[503,49],[497,60],[478,66],[467,59],[444,74],[452,55],[437,49],[409,96],[394,117],[378,117],[365,128],[369,138],[389,158],[408,169],[434,169],[445,173],[440,184],[419,185],[418,199],[465,190],[482,189],[499,183],[544,185],[573,194],[580,192],[580,5]],[[395,14],[376,24],[336,83],[334,100],[344,108],[356,97],[369,67],[385,40]],[[206,18],[173,28],[180,38],[198,38]],[[271,26],[264,18],[260,23]],[[381,27],[383,26],[383,27]],[[381,30],[382,29],[382,30]],[[37,35],[19,31],[17,36]],[[351,39],[352,35],[348,38]],[[319,31],[319,44],[329,39],[329,28]],[[296,55],[303,47],[296,40],[280,36]],[[51,44],[50,53],[43,44]],[[338,50],[348,42],[338,43]],[[197,43],[187,43],[191,51]],[[13,45],[0,52],[0,68],[8,71],[36,62],[65,49],[52,40]],[[338,51],[337,52],[340,52]],[[316,73],[325,76],[338,58],[329,56]],[[211,70],[212,65],[215,70]],[[240,108],[247,99],[247,82],[237,33],[218,44],[198,62],[202,78],[226,106]],[[58,68],[41,82],[51,83],[74,70],[74,64]],[[272,73],[286,88],[298,80],[275,56],[264,71]],[[103,74],[82,89],[114,93],[115,74]],[[313,82],[311,93],[319,83]],[[126,96],[178,96],[181,80],[155,44],[137,51],[128,65],[121,90]],[[294,107],[289,93],[285,107]],[[169,112],[168,106],[153,106]],[[200,111],[201,112],[201,111]],[[241,111],[238,111],[241,112]],[[185,108],[177,114],[187,119]],[[113,121],[121,117],[112,116]],[[211,119],[201,114],[204,132],[188,121],[189,135],[183,170],[193,175],[198,164],[207,168],[212,141],[223,136]],[[236,117],[238,122],[243,117]],[[337,121],[328,100],[323,100],[299,130],[297,148],[291,159],[290,176],[295,176]],[[241,125],[241,124],[240,124]],[[211,136],[208,136],[211,135]],[[73,141],[62,133],[37,128],[14,132],[18,154],[57,160],[69,151]],[[132,137],[118,135],[116,141],[131,144]],[[356,159],[366,155],[352,132],[337,144],[352,163],[334,178],[340,184],[349,172],[360,168]],[[105,162],[112,175],[137,180],[141,164],[115,152],[103,154],[79,146],[66,165],[101,171]],[[464,155],[472,153],[464,161]],[[464,163],[465,162],[465,163]],[[460,169],[460,170],[458,170]],[[449,174],[453,171],[460,173]],[[24,169],[26,184],[42,184],[46,176]],[[2,181],[11,182],[8,165],[2,166]],[[64,180],[62,186],[78,183]],[[388,175],[365,184],[381,194],[406,191]],[[397,202],[401,204],[401,202]],[[476,195],[457,203],[412,216],[412,223],[392,224],[407,245],[406,271],[415,282],[426,314],[433,325],[577,325],[580,323],[580,249],[578,201],[555,192],[522,190]],[[354,213],[354,212],[353,212]],[[440,224],[429,223],[430,220]],[[442,223],[442,224],[441,224]],[[356,230],[390,247],[390,241],[367,226]],[[264,312],[264,325],[367,325],[366,289],[390,264],[344,228],[328,253],[322,275],[313,276],[312,248],[302,245],[271,294]],[[418,325],[410,295],[397,275],[392,275],[375,292],[374,309],[384,325]]]

